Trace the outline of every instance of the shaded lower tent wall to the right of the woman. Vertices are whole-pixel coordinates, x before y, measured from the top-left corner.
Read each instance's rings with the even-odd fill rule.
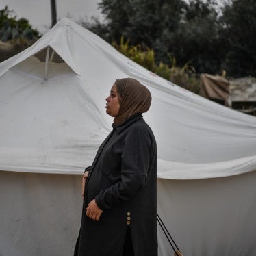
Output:
[[[256,172],[158,179],[157,212],[183,255],[256,255]],[[158,229],[159,256],[173,255]]]

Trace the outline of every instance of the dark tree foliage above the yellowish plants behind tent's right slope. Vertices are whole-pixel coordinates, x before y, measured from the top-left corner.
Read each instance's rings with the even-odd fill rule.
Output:
[[[132,45],[147,45],[162,66],[171,65],[171,54],[179,66],[189,61],[197,73],[225,69],[229,77],[256,76],[256,1],[225,0],[222,10],[217,3],[101,0],[105,21],[94,19],[89,29],[107,42],[124,36]]]

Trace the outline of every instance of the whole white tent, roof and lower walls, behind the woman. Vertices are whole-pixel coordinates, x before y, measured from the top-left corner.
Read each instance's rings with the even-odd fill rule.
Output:
[[[81,174],[110,132],[105,97],[153,96],[158,213],[184,255],[256,254],[256,118],[183,90],[67,18],[0,64],[0,255],[72,255]],[[172,255],[159,229],[159,255]]]

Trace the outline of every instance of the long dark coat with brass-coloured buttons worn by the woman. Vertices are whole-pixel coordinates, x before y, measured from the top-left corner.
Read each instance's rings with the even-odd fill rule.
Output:
[[[141,114],[113,125],[88,169],[77,255],[121,256],[127,228],[135,256],[157,255],[157,147]],[[99,222],[85,214],[92,199]]]

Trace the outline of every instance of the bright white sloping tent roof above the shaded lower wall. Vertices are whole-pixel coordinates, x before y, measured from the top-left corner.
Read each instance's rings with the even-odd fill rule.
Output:
[[[64,62],[49,61],[44,79],[46,62],[35,55],[47,47]],[[1,63],[0,75],[1,170],[81,173],[110,132],[105,97],[122,77],[138,79],[153,96],[144,117],[157,139],[159,177],[205,179],[256,169],[254,116],[154,75],[68,18]]]

